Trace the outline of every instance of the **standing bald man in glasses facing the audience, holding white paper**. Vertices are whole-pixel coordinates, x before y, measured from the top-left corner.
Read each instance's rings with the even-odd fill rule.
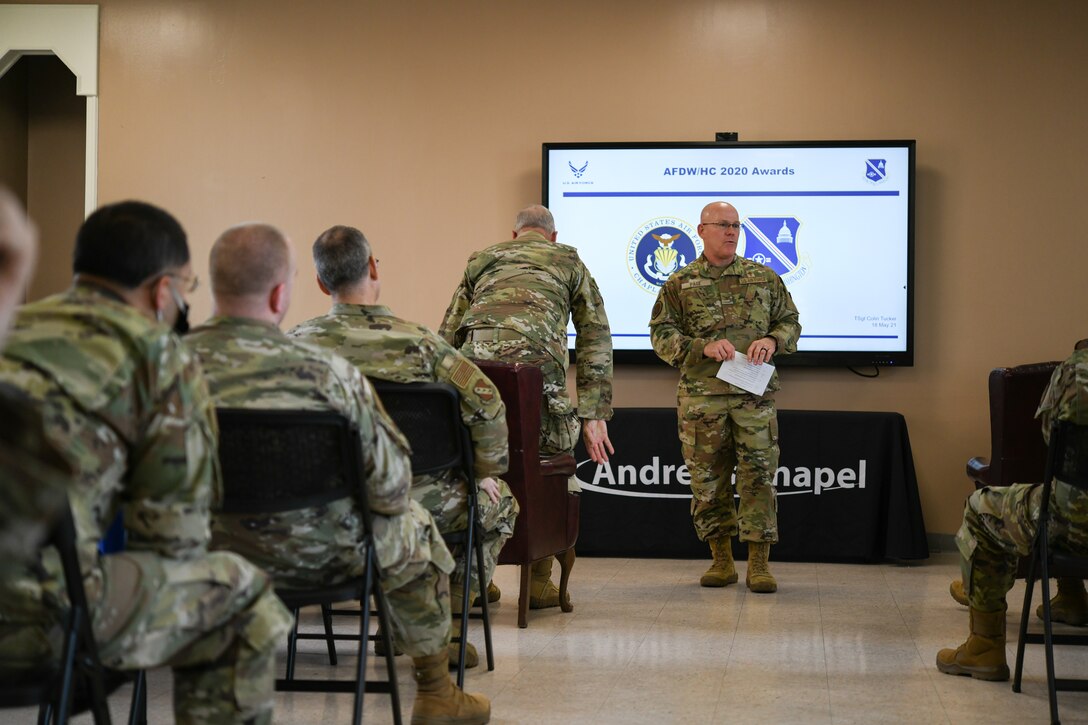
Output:
[[[703,254],[662,286],[650,320],[658,357],[680,368],[680,443],[691,471],[695,533],[714,562],[704,587],[737,581],[731,539],[749,544],[745,581],[754,592],[778,590],[767,564],[778,541],[776,371],[763,395],[715,377],[724,360],[744,353],[753,364],[796,351],[801,324],[789,291],[771,269],[737,256],[740,217],[731,204],[703,208]],[[733,469],[740,511],[733,503]]]

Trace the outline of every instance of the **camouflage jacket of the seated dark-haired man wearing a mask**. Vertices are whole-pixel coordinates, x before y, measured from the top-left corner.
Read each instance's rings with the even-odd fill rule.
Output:
[[[20,311],[0,380],[41,405],[53,445],[76,470],[69,500],[92,606],[98,541],[122,505],[128,551],[203,554],[220,490],[215,421],[200,368],[169,328],[79,283]],[[59,563],[47,568],[39,581],[8,588],[21,595],[3,595],[5,619],[34,620],[50,592],[63,591]]]

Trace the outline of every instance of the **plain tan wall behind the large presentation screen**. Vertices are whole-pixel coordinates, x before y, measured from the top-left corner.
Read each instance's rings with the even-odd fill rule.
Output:
[[[987,371],[1088,334],[1088,3],[100,5],[101,201],[175,211],[201,277],[242,220],[282,225],[304,259],[358,225],[385,300],[431,325],[468,254],[539,198],[542,142],[917,138],[916,367],[787,370],[780,401],[903,413],[934,532],[955,530],[964,462],[988,451]],[[288,323],[325,309],[311,275]],[[616,377],[620,406],[673,401],[668,370]]]

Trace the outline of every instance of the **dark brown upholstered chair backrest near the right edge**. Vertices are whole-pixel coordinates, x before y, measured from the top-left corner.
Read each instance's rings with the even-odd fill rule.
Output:
[[[1047,443],[1035,417],[1056,361],[990,372],[990,486],[1041,481]]]

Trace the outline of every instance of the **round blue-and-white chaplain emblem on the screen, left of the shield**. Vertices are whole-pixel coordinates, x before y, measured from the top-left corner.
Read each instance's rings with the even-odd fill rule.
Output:
[[[627,245],[627,269],[640,287],[656,295],[677,270],[703,254],[695,229],[675,217],[651,219],[635,230]]]

